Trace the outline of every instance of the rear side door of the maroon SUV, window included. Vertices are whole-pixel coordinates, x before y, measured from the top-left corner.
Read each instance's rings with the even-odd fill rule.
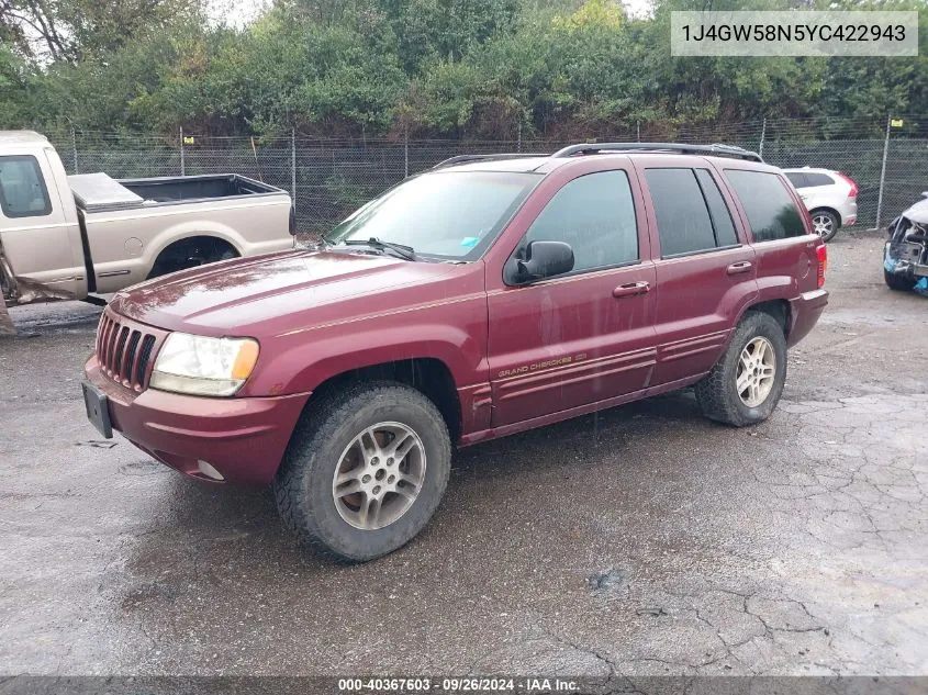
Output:
[[[757,268],[714,169],[656,162],[642,175],[656,249],[655,383],[662,384],[712,369],[757,295]]]

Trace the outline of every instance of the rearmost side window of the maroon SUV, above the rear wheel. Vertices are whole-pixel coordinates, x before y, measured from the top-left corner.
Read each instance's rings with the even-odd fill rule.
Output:
[[[779,176],[746,169],[726,169],[725,176],[748,215],[754,242],[805,235],[803,217]]]

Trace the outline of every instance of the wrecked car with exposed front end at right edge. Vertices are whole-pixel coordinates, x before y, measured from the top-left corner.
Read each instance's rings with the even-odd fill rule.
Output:
[[[928,191],[893,220],[883,250],[883,279],[891,290],[928,292]]]

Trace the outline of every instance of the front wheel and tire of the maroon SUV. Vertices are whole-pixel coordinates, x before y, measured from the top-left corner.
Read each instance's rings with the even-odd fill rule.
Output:
[[[304,542],[364,562],[404,546],[432,518],[451,466],[438,408],[392,381],[310,402],[273,482],[277,508]]]

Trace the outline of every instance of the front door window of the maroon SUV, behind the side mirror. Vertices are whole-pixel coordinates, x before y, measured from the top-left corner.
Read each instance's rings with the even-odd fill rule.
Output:
[[[569,181],[532,223],[529,242],[566,242],[573,270],[638,260],[638,225],[625,171],[599,171]]]

